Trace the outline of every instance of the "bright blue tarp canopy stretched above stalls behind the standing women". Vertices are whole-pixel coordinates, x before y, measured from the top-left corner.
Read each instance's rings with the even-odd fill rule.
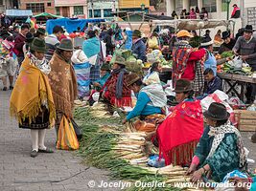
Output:
[[[98,22],[105,22],[105,19],[70,19],[70,18],[59,18],[59,19],[50,19],[46,22],[46,31],[48,34],[53,33],[53,29],[55,26],[63,26],[65,30],[69,33],[77,31],[78,27],[84,29],[87,23],[98,23]]]

